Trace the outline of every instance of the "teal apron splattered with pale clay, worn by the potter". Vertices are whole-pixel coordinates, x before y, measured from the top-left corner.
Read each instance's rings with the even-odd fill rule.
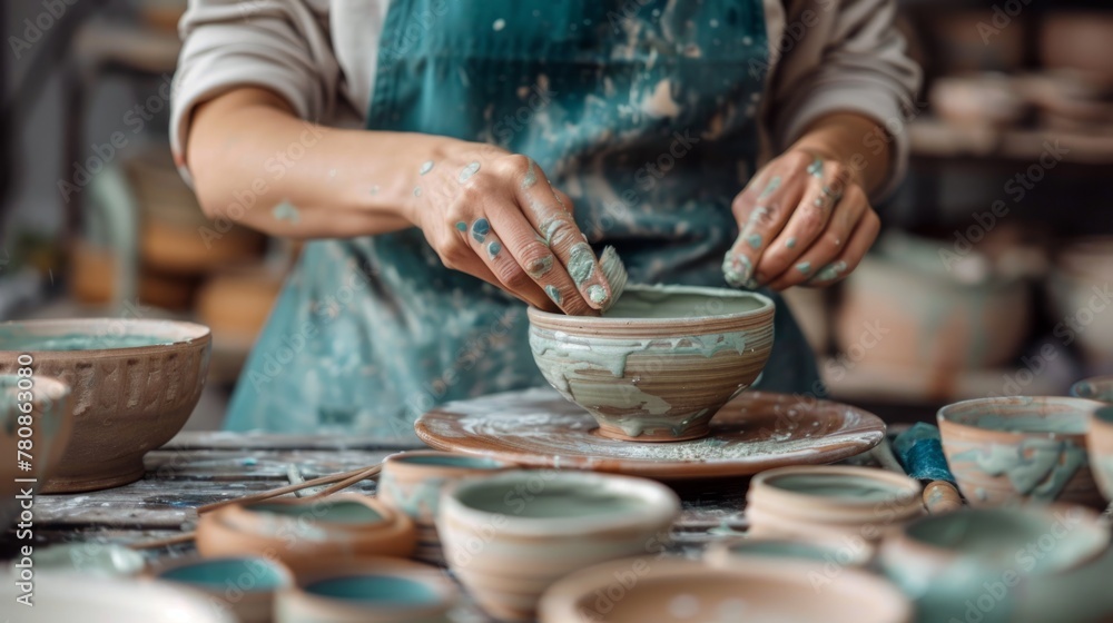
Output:
[[[642,6],[644,4],[644,6]],[[536,160],[631,279],[723,286],[731,199],[755,170],[760,0],[395,0],[367,128]],[[814,392],[778,301],[760,387]],[[522,303],[445,269],[421,231],[315,241],[253,352],[227,427],[412,435],[430,407],[544,385]]]

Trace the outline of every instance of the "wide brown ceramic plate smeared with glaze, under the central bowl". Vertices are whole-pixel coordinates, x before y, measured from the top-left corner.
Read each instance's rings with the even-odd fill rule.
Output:
[[[608,439],[552,389],[447,403],[414,425],[430,446],[526,467],[613,472],[674,481],[746,476],[782,465],[834,463],[885,436],[876,415],[839,403],[748,392],[711,421],[711,434],[677,443]]]

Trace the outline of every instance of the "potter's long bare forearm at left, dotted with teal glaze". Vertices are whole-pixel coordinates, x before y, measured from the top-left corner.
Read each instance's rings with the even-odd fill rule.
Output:
[[[316,126],[245,88],[198,107],[186,160],[210,218],[275,236],[353,237],[411,227],[421,164],[459,142]]]

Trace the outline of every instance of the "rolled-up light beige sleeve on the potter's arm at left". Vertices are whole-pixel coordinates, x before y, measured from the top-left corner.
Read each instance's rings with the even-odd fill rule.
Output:
[[[178,27],[170,145],[185,170],[194,108],[237,87],[269,89],[317,121],[335,106],[339,69],[328,34],[328,3],[313,0],[190,0]]]

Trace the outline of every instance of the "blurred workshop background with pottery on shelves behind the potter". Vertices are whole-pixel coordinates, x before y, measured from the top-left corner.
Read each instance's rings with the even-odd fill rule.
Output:
[[[210,326],[204,429],[298,247],[208,221],[173,166],[185,3],[3,2],[0,320]],[[908,177],[849,279],[787,293],[831,396],[929,419],[1113,372],[1113,6],[899,3],[926,75]]]

